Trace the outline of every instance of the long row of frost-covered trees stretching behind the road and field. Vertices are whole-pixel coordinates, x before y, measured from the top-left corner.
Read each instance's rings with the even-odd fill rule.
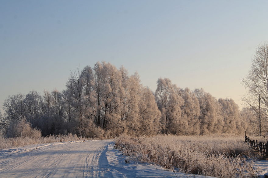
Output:
[[[123,66],[117,69],[109,62],[72,71],[62,92],[44,90],[41,95],[31,90],[8,96],[3,110],[3,135],[24,118],[43,136],[241,133],[255,129],[249,113],[256,116],[254,110],[240,111],[232,99],[216,99],[204,89],[182,89],[167,78],[159,78],[153,92],[137,73],[129,75]]]

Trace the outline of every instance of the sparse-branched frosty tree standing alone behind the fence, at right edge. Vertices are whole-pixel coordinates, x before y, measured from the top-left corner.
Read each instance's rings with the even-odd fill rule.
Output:
[[[256,47],[249,75],[242,79],[248,93],[243,97],[247,106],[261,114],[261,129],[268,134],[268,42]],[[260,106],[260,111],[259,111]]]

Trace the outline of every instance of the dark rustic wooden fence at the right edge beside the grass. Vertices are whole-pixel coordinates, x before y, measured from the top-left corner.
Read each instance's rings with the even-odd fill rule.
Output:
[[[246,136],[245,133],[245,143],[249,144],[251,148],[255,149],[256,151],[259,151],[264,157],[268,158],[268,141],[265,142],[259,142],[258,140],[251,140],[248,136]]]

